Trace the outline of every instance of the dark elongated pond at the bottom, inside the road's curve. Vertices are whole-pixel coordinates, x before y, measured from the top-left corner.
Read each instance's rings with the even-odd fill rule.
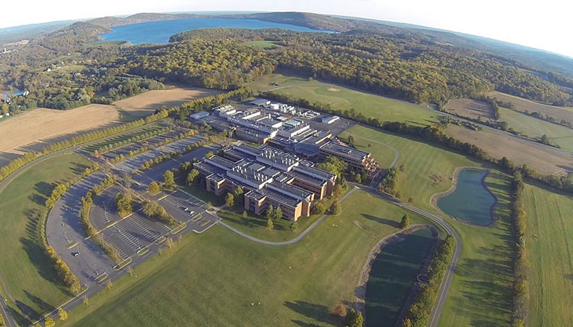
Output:
[[[429,229],[420,229],[376,256],[366,286],[366,327],[395,326],[432,240]]]

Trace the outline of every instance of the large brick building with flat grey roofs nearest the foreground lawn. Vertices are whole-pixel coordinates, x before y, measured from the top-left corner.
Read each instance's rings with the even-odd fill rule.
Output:
[[[216,195],[244,190],[244,209],[262,215],[269,206],[281,207],[283,218],[296,221],[310,215],[310,206],[332,195],[336,175],[313,167],[289,152],[275,148],[235,145],[222,156],[194,164],[207,191]]]

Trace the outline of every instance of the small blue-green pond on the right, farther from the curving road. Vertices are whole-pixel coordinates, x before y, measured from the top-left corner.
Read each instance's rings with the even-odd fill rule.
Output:
[[[485,170],[461,170],[454,193],[438,200],[440,210],[470,224],[491,224],[495,197],[483,185],[485,175]]]

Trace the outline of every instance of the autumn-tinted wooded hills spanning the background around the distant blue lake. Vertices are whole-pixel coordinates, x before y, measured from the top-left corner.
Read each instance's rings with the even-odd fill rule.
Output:
[[[573,79],[562,73],[533,71],[499,55],[453,46],[435,33],[324,15],[283,12],[249,18],[340,33],[214,28],[179,33],[170,44],[155,46],[88,43],[110,26],[192,17],[197,16],[92,19],[2,53],[0,87],[26,91],[26,96],[9,96],[2,109],[110,103],[161,89],[165,82],[236,89],[276,69],[414,103],[442,105],[449,98],[476,97],[497,89],[553,105],[573,105]],[[278,46],[265,51],[244,44],[263,39]]]

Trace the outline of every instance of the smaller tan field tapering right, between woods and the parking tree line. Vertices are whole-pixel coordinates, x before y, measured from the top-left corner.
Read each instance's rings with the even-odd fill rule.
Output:
[[[161,106],[175,107],[186,103],[194,98],[219,94],[221,91],[213,89],[199,89],[178,87],[175,89],[158,89],[147,91],[131,98],[115,101],[117,107],[124,109],[127,114],[132,116],[147,116],[150,112],[159,109]]]

